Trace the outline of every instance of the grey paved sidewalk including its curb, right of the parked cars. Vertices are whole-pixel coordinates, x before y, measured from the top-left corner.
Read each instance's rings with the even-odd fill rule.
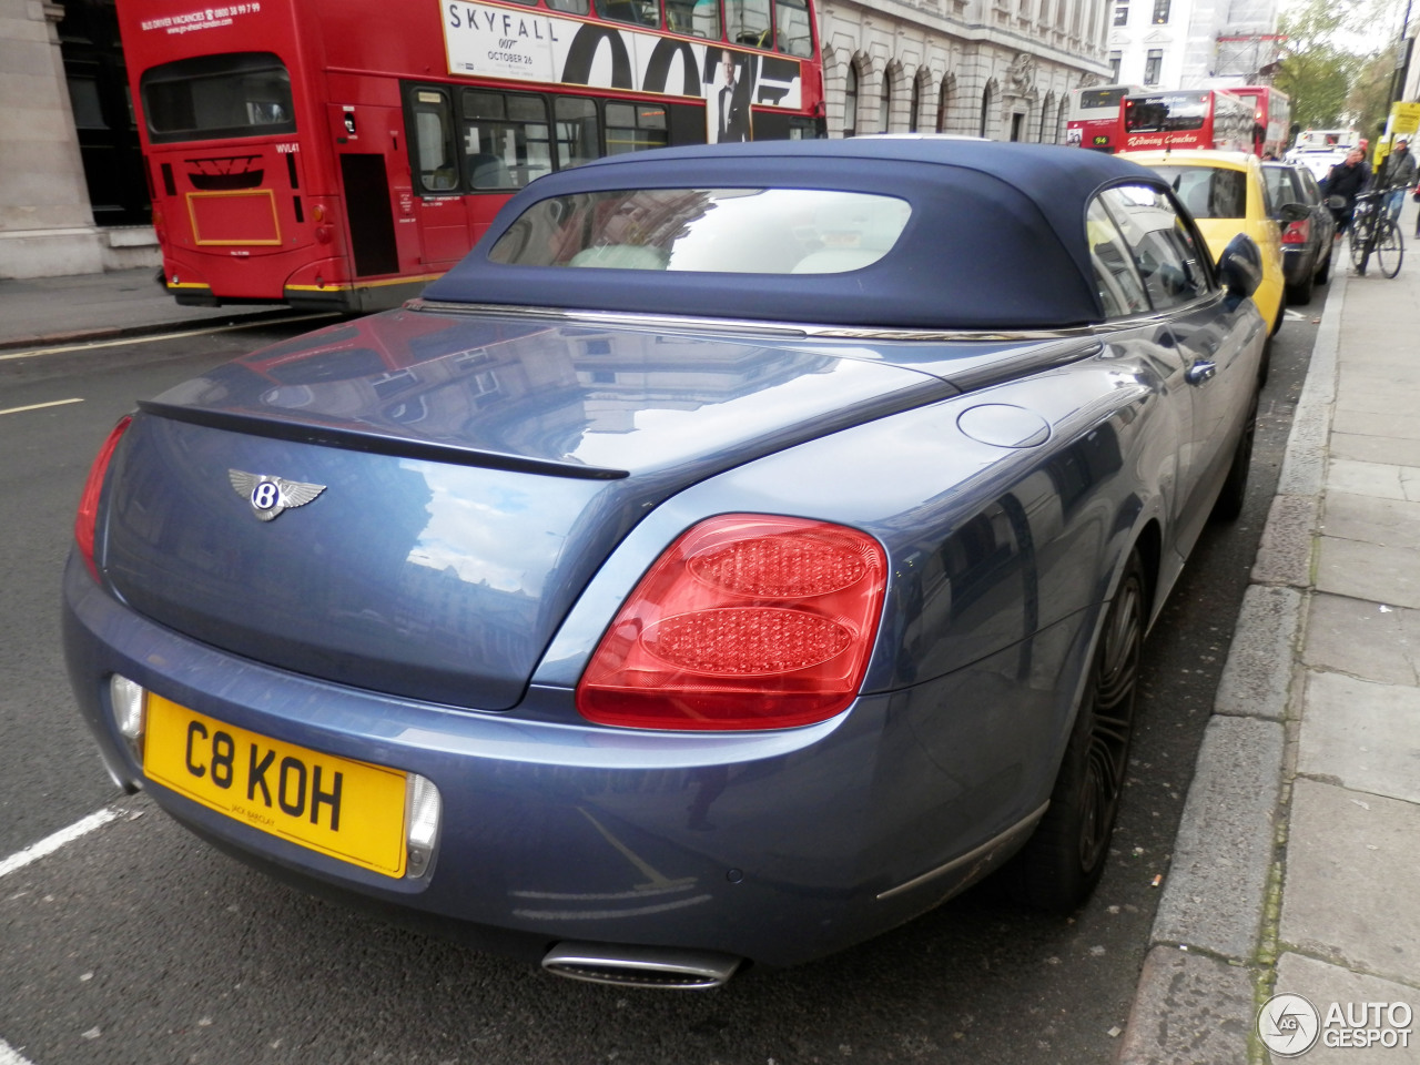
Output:
[[[1123,1065],[1420,1062],[1417,338],[1338,256]]]

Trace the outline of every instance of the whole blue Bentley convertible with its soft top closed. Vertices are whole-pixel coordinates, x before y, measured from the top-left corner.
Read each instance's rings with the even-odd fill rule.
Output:
[[[138,405],[65,574],[115,781],[586,980],[1099,879],[1267,325],[1167,185],[933,138],[538,179],[406,307]]]

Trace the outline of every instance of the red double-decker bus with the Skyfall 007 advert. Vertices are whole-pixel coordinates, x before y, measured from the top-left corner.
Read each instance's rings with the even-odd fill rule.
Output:
[[[124,0],[178,302],[395,307],[532,178],[824,133],[812,0]]]

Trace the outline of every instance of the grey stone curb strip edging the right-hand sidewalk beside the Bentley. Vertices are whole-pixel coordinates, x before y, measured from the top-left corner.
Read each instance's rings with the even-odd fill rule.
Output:
[[[1285,721],[1336,399],[1346,270],[1333,268],[1278,494],[1184,802],[1119,1065],[1248,1061],[1258,946],[1282,816]]]

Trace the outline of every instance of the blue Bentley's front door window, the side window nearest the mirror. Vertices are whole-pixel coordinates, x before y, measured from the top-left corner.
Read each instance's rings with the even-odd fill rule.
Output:
[[[1159,189],[1125,185],[1099,199],[1119,226],[1156,311],[1208,293],[1208,271],[1193,231]]]

